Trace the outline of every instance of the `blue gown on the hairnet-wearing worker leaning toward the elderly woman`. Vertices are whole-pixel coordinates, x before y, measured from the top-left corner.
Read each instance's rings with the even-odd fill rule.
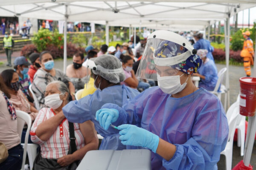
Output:
[[[95,114],[105,103],[114,103],[122,106],[127,102],[127,99],[133,99],[138,94],[140,93],[137,90],[125,85],[114,85],[102,91],[97,90],[80,100],[71,101],[62,110],[70,122],[83,123],[91,120],[94,123],[97,132],[104,137],[99,148],[100,150],[122,150],[126,149],[126,146],[119,140],[119,130],[112,127],[104,130],[96,120]]]

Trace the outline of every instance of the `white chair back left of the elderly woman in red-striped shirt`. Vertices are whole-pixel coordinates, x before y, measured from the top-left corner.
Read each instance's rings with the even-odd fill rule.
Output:
[[[23,131],[23,127],[24,127],[25,123],[27,125],[26,136],[25,136],[24,147],[23,147],[23,149],[24,149],[23,161],[22,161],[22,166],[21,166],[21,170],[23,170],[24,164],[26,161],[26,151],[27,151],[27,145],[28,145],[28,140],[29,140],[29,131],[30,131],[32,121],[31,121],[31,117],[26,112],[16,110],[16,114],[17,114],[17,124],[18,124],[17,131],[20,136],[20,139],[21,139],[21,135],[22,135],[22,131]]]

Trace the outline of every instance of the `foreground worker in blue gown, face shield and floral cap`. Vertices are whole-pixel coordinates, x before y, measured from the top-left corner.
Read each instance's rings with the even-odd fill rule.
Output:
[[[180,35],[154,31],[137,76],[157,80],[159,87],[143,91],[122,108],[105,104],[96,113],[106,130],[110,124],[118,126],[122,144],[151,150],[153,170],[217,170],[227,143],[221,102],[192,82],[191,75],[202,63],[196,53]]]

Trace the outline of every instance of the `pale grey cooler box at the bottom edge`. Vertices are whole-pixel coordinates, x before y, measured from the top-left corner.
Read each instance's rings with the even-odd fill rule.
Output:
[[[146,149],[91,150],[76,170],[151,170],[151,152]]]

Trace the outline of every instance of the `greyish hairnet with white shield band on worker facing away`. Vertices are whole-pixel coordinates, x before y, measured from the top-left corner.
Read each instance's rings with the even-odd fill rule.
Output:
[[[92,70],[93,74],[100,75],[112,83],[119,83],[125,80],[125,73],[122,69],[121,62],[113,55],[104,54],[92,60],[97,69]]]

